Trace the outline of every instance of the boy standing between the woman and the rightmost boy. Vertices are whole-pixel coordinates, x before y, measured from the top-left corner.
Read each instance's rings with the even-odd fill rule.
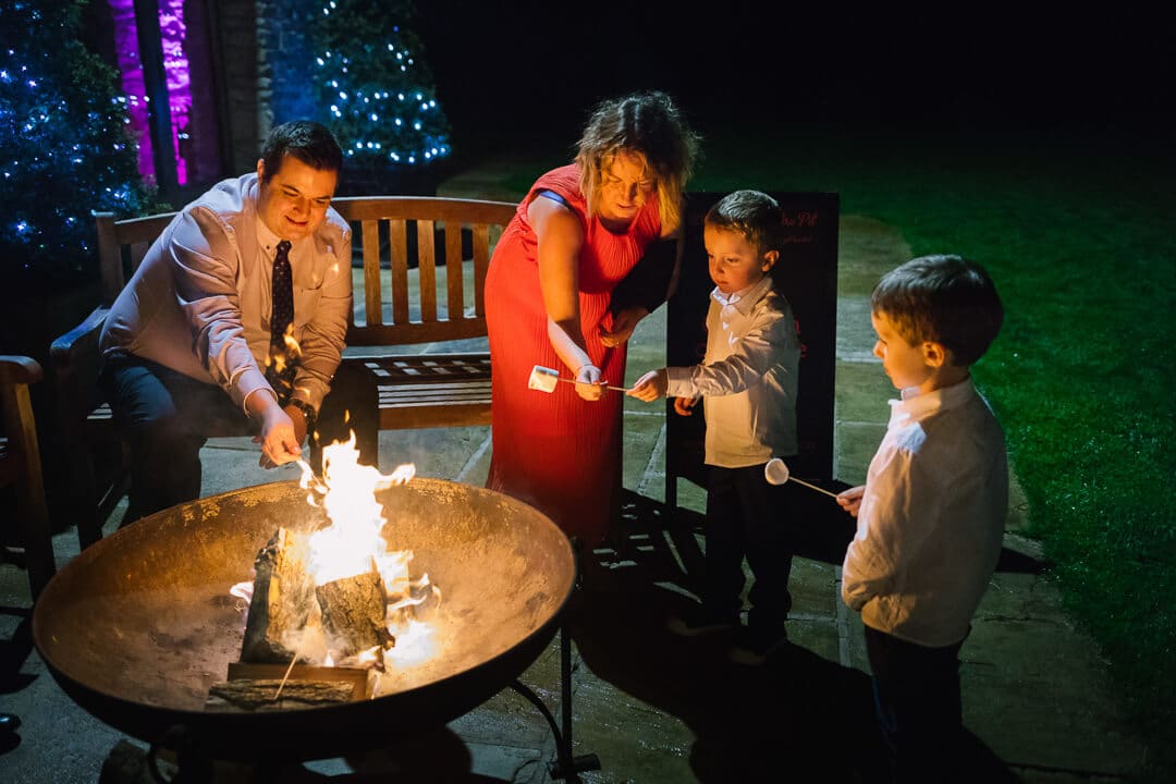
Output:
[[[730,657],[754,665],[788,638],[791,608],[791,491],[763,474],[773,457],[797,451],[800,340],[791,307],[769,274],[783,246],[780,205],[757,190],[736,190],[707,213],[703,241],[715,282],[703,361],[652,370],[628,394],[647,402],[674,397],[683,416],[703,400],[709,478],[702,605],[670,628],[687,636],[736,628]],[[744,557],[755,578],[746,628]]]

